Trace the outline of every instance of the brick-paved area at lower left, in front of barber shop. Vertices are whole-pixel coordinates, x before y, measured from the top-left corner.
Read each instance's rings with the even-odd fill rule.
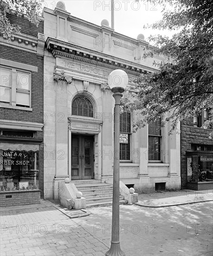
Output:
[[[1,256],[104,256],[108,250],[51,204],[2,208],[0,224]]]

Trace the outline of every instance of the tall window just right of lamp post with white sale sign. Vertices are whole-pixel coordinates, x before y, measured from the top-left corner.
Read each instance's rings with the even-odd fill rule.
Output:
[[[120,160],[130,160],[131,114],[120,115]]]

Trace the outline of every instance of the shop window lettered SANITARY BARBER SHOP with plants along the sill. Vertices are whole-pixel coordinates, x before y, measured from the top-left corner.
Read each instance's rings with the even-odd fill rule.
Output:
[[[0,192],[39,189],[39,150],[0,149]]]

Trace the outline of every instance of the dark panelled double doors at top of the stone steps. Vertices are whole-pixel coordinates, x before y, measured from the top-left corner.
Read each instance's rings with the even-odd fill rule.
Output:
[[[71,137],[71,179],[94,178],[94,136],[75,135]]]

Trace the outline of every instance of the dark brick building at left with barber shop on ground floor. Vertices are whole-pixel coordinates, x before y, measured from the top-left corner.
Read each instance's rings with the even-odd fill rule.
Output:
[[[44,21],[8,14],[20,33],[0,36],[0,202],[44,197]],[[12,178],[13,180],[9,179]]]

